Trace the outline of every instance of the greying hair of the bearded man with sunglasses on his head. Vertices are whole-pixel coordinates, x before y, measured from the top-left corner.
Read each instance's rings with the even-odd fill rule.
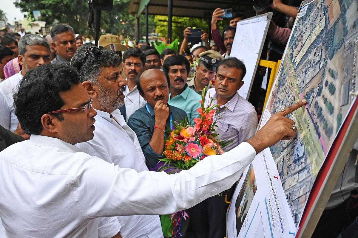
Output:
[[[84,44],[79,47],[71,59],[71,66],[77,69],[82,83],[90,81],[93,84],[98,84],[98,76],[103,67],[119,66],[121,57],[115,51],[107,49],[101,49],[103,55],[98,56],[88,52],[91,47],[96,46]]]

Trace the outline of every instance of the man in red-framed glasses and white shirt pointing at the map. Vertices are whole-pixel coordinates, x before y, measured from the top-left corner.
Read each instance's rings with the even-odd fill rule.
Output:
[[[102,217],[192,207],[231,187],[257,153],[292,139],[295,122],[285,115],[306,101],[272,115],[231,151],[170,175],[120,168],[75,147],[93,138],[97,113],[89,103],[77,70],[67,64],[40,66],[21,80],[15,114],[31,137],[0,152],[0,218],[7,237],[97,238]],[[64,111],[53,113],[58,110]]]

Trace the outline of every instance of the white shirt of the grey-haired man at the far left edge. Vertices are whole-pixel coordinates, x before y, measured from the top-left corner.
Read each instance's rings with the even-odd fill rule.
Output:
[[[11,132],[14,132],[19,124],[19,120],[15,116],[13,90],[24,77],[21,72],[0,83],[0,125]]]

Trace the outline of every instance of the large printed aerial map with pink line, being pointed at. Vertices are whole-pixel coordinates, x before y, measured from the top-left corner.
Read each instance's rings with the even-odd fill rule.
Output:
[[[295,223],[357,91],[358,1],[315,0],[302,6],[267,110],[301,99],[290,117],[297,136],[270,148]],[[265,115],[263,115],[265,116]]]

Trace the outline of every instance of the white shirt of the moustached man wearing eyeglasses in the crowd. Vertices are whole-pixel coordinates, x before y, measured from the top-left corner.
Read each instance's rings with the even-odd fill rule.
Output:
[[[126,79],[127,80],[127,79]],[[126,122],[128,122],[129,117],[139,108],[145,106],[147,103],[146,100],[139,94],[137,86],[134,86],[132,91],[129,91],[128,85],[124,90],[124,104],[126,105]]]

